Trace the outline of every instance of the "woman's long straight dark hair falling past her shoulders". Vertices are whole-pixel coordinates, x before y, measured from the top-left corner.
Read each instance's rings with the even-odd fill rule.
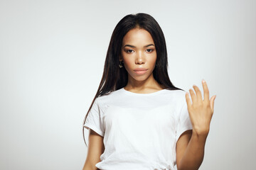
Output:
[[[122,67],[119,68],[119,56],[121,55],[122,40],[124,35],[133,28],[142,28],[147,30],[154,40],[156,47],[156,65],[153,71],[153,76],[156,81],[164,86],[164,89],[169,90],[182,90],[171,83],[169,75],[167,72],[168,60],[167,60],[167,50],[166,41],[164,38],[164,33],[161,30],[159,23],[146,13],[129,14],[124,16],[117,26],[111,36],[110,45],[107,49],[107,56],[105,60],[104,72],[102,74],[102,79],[100,81],[100,86],[97,89],[95,98],[93,98],[92,104],[85,115],[83,125],[85,125],[85,120],[87,115],[92,108],[95,99],[98,96],[103,96],[109,94],[112,91],[117,91],[122,89],[127,85],[128,73],[127,70]],[[82,134],[85,141],[84,127],[82,128]],[[87,146],[86,142],[85,145]]]

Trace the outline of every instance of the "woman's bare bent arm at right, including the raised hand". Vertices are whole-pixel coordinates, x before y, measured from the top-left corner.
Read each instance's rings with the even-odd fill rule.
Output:
[[[204,99],[198,86],[193,85],[196,94],[189,89],[191,100],[186,93],[186,103],[193,130],[184,132],[176,143],[176,164],[178,170],[197,170],[203,162],[204,147],[210,130],[210,120],[213,116],[214,101],[209,100],[209,90],[206,81],[202,81]]]

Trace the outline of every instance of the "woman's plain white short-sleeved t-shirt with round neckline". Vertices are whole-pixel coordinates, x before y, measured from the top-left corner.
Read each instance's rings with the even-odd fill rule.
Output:
[[[176,169],[176,142],[192,130],[186,91],[137,94],[124,88],[95,99],[84,127],[104,137],[102,170]]]

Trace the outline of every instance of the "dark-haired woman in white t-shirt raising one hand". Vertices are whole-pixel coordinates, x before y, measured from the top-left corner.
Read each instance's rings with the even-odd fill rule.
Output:
[[[87,169],[198,169],[213,115],[201,91],[175,87],[167,72],[164,33],[146,13],[114,28],[105,68],[84,120]]]

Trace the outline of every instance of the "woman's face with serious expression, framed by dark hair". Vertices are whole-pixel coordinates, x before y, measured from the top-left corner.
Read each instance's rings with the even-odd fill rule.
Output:
[[[156,64],[156,47],[150,33],[142,28],[134,28],[124,35],[121,50],[128,79],[144,81],[150,76]],[[143,69],[144,71],[139,71]]]

